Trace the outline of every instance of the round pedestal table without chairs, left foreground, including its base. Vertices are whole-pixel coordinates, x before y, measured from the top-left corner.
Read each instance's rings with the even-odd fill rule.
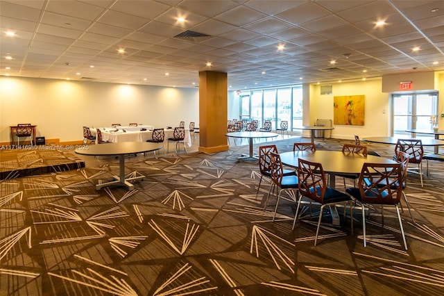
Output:
[[[119,157],[119,176],[113,176],[114,180],[99,183],[96,189],[99,190],[105,186],[126,186],[128,190],[133,190],[134,185],[130,181],[135,181],[145,178],[142,174],[132,174],[126,178],[125,176],[125,156],[137,153],[144,153],[148,151],[156,151],[162,149],[162,143],[153,142],[117,142],[96,144],[76,149],[76,154],[90,155],[90,156],[118,156]]]

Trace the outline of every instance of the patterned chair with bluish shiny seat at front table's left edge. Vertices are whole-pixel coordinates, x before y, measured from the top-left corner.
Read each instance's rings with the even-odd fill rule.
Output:
[[[270,151],[271,158],[271,181],[273,181],[273,186],[270,187],[268,191],[268,196],[271,194],[271,190],[273,192],[278,190],[279,192],[276,194],[276,206],[275,213],[273,214],[273,221],[275,220],[276,213],[278,212],[278,206],[280,199],[286,199],[290,202],[298,202],[298,177],[296,174],[284,175],[284,167],[282,165],[282,161],[280,159],[280,155],[278,153]],[[287,192],[286,196],[282,196],[282,191]],[[295,216],[296,217],[296,216]]]

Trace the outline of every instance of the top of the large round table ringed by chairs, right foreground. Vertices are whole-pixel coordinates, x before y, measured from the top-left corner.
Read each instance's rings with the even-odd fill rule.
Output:
[[[359,174],[364,163],[396,163],[393,159],[380,156],[343,153],[342,151],[316,150],[309,151],[289,151],[280,154],[284,165],[298,167],[298,159],[321,163],[326,173],[330,174]]]

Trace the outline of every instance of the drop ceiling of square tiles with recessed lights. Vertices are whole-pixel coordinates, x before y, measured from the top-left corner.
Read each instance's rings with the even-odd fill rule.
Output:
[[[444,1],[0,0],[0,30],[10,76],[193,88],[217,71],[241,90],[444,70]]]

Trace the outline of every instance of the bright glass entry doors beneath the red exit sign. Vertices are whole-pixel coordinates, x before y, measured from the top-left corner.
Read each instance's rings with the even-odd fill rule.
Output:
[[[431,130],[437,115],[437,93],[393,94],[393,135],[411,135],[408,129]]]

